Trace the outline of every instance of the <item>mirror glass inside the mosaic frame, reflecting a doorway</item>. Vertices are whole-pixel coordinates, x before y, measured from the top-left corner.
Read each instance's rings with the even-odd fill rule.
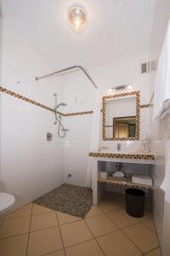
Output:
[[[136,95],[105,97],[105,139],[136,137]]]

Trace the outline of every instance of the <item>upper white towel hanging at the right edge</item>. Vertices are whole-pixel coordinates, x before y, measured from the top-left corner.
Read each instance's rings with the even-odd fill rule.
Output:
[[[170,21],[156,72],[153,119],[163,118],[167,113],[170,113]]]

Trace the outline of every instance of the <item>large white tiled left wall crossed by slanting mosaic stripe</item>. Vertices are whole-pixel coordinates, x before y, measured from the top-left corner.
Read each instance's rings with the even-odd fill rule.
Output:
[[[54,108],[54,92],[63,101],[61,78],[36,82],[51,70],[31,45],[3,20],[1,84]],[[20,81],[20,84],[16,82]],[[64,142],[57,135],[54,113],[1,93],[0,190],[15,195],[16,206],[26,204],[63,183]],[[53,133],[47,142],[46,134]]]

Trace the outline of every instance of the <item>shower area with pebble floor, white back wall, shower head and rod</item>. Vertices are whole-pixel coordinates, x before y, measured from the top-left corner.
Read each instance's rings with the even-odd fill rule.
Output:
[[[77,69],[82,73],[71,73]],[[77,66],[37,77],[36,80],[60,73],[65,73],[64,97],[60,102],[59,95],[54,93],[54,130],[64,143],[64,184],[40,196],[34,203],[84,218],[93,204],[92,189],[85,187],[85,178],[94,109],[92,95],[97,85],[84,68]]]

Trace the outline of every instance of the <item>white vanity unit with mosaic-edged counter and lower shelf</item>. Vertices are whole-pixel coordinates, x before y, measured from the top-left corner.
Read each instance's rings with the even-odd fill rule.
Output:
[[[100,195],[102,194],[103,185],[106,183],[123,186],[132,187],[139,189],[153,189],[154,186],[142,185],[139,183],[132,182],[117,182],[111,180],[110,178],[102,179],[99,175],[100,171],[105,170],[106,162],[122,162],[129,164],[142,164],[142,165],[155,165],[156,154],[154,153],[144,153],[144,152],[114,152],[109,150],[94,151],[88,154],[92,157],[92,189],[93,189],[93,203],[97,205],[99,203]]]

